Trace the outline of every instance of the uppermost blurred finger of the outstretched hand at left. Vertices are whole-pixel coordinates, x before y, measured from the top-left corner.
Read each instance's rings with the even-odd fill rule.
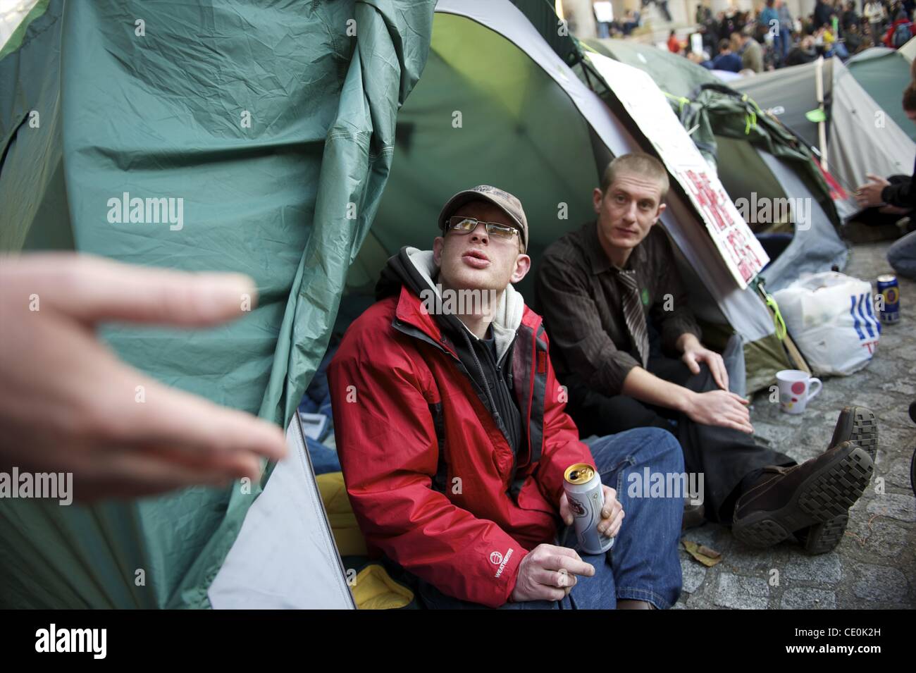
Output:
[[[138,268],[92,255],[6,261],[34,265],[34,280],[27,275],[20,283],[26,297],[37,294],[43,305],[87,323],[211,325],[240,318],[257,303],[254,281],[241,274]]]

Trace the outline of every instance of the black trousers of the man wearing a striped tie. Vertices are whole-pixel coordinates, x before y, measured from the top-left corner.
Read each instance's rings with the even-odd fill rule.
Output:
[[[649,359],[648,369],[696,393],[718,387],[705,364],[701,365],[700,374],[691,374],[681,360],[659,357]],[[686,471],[703,474],[703,505],[710,521],[731,524],[741,480],[749,472],[767,465],[795,464],[789,456],[760,446],[752,436],[739,430],[696,423],[686,414],[648,405],[626,395],[602,395],[574,376],[566,385],[569,391],[566,410],[582,437],[610,435],[633,428],[671,430],[681,442]]]

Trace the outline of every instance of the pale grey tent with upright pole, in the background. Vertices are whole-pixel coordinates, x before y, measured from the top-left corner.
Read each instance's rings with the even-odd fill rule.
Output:
[[[845,190],[867,181],[867,173],[910,175],[916,145],[882,106],[867,94],[837,58],[823,60],[823,131],[816,99],[818,61],[735,81],[811,147],[822,150],[827,168]],[[901,90],[902,92],[902,90]],[[899,105],[900,103],[898,103]],[[883,122],[883,126],[879,125]]]

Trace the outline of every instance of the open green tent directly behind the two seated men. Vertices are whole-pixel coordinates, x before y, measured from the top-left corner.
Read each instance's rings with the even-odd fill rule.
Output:
[[[351,269],[339,329],[372,300],[387,255],[405,244],[428,248],[442,203],[482,182],[525,204],[534,269],[519,289],[530,297],[544,248],[594,218],[591,191],[610,158],[653,151],[635,122],[608,106],[613,101],[594,71],[583,73],[573,40],[557,38],[556,16],[532,18],[542,6],[440,0],[430,58],[398,114],[398,157]],[[682,254],[693,308],[710,339],[722,347],[739,334],[748,389],[768,385],[789,362],[769,310],[754,289],[737,288],[679,188],[669,195],[662,225]]]

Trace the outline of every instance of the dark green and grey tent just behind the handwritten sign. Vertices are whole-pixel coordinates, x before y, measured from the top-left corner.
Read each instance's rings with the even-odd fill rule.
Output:
[[[811,152],[791,132],[703,66],[667,49],[622,39],[588,39],[585,44],[646,71],[669,94],[671,107],[718,169],[732,201],[747,203],[756,214],[752,204],[764,200],[802,199],[790,201],[793,207],[780,218],[747,218],[772,259],[761,274],[769,291],[785,288],[802,273],[845,266],[847,250],[837,234],[840,219],[831,190]],[[796,204],[804,212],[796,212]]]

